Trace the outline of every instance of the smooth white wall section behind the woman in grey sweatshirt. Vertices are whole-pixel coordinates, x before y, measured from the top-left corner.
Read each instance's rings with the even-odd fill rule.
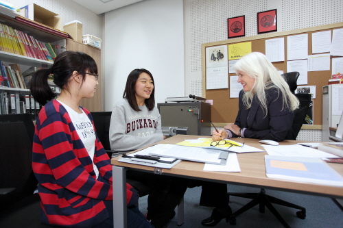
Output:
[[[123,97],[134,68],[155,80],[156,103],[183,97],[184,36],[182,0],[145,0],[104,15],[105,110]]]

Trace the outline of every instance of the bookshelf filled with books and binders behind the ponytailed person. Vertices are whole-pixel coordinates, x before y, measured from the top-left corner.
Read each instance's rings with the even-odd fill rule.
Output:
[[[24,46],[25,43],[22,40],[23,36],[15,36],[16,33],[12,33],[12,31],[20,31],[22,34],[26,34],[27,37],[31,36],[33,39],[32,44],[34,44],[34,41],[38,40],[41,44],[47,42],[61,43],[61,46],[64,44],[65,48],[65,38],[57,36],[56,34],[51,34],[48,31],[44,31],[44,29],[23,24],[20,21],[17,21],[16,18],[11,18],[3,14],[0,14],[0,23],[1,75],[4,76],[6,73],[7,75],[5,76],[10,77],[11,80],[11,83],[10,81],[7,81],[6,83],[6,80],[4,80],[3,86],[0,86],[0,114],[18,114],[28,112],[32,114],[32,119],[34,120],[40,110],[40,105],[34,101],[29,92],[29,88],[27,87],[29,76],[25,78],[23,77],[23,73],[25,73],[25,71],[34,71],[38,68],[49,68],[54,63],[54,60],[52,57],[49,60],[48,53],[45,52],[47,49],[44,49],[44,46],[39,47],[38,45],[40,44],[38,42],[35,43],[35,47],[32,46],[30,49],[32,53],[29,53],[31,56],[28,56],[28,53],[26,53],[28,46]],[[10,29],[8,29],[8,27]],[[12,35],[12,37],[9,35]],[[12,41],[12,46],[10,46],[10,40],[14,40]],[[16,50],[14,50],[15,46],[13,45],[13,42],[16,42]],[[21,42],[21,45],[19,42]],[[8,45],[7,47],[13,47],[13,49],[6,49],[4,45]],[[14,53],[14,51],[16,53]],[[10,72],[13,73],[13,75],[10,75]],[[15,79],[12,77],[15,77]],[[2,77],[1,79],[4,78]],[[14,80],[16,80],[16,83],[14,83]]]

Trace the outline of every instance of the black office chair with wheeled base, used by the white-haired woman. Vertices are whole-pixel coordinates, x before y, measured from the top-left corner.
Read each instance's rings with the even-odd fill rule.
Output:
[[[294,93],[297,84],[296,81],[299,77],[298,72],[290,72],[283,74],[283,77],[285,78],[285,81],[287,81],[287,84],[289,86],[289,89]],[[307,110],[309,109],[309,103],[311,101],[311,94],[295,94],[296,97],[299,99],[299,107],[297,110],[295,110],[295,116],[292,123],[292,131],[294,131],[294,138],[290,140],[296,140],[296,136],[298,136],[298,133],[300,131],[301,126],[303,125],[303,122],[305,120]],[[286,207],[292,207],[299,209],[300,211],[296,212],[296,216],[298,218],[305,219],[306,217],[306,209],[305,207],[301,207],[299,205],[295,205],[293,203],[289,203],[287,201],[283,201],[281,199],[277,199],[275,197],[271,197],[268,194],[265,194],[265,190],[261,188],[261,191],[259,193],[241,193],[241,192],[228,192],[228,197],[234,196],[234,197],[243,197],[252,199],[248,204],[241,207],[237,212],[234,212],[230,216],[230,224],[235,225],[236,224],[236,217],[239,214],[242,214],[243,212],[246,212],[252,207],[255,207],[255,205],[259,204],[259,212],[264,213],[265,207],[268,207],[270,212],[274,214],[274,216],[283,224],[284,227],[289,227],[289,225],[286,223],[286,221],[282,218],[282,216],[279,214],[279,212],[276,211],[275,207],[272,205],[272,203],[283,205]]]

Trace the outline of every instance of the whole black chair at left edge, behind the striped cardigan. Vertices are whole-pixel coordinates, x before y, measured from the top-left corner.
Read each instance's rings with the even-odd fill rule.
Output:
[[[29,114],[0,115],[0,227],[40,224],[38,181],[32,171],[34,123]]]

